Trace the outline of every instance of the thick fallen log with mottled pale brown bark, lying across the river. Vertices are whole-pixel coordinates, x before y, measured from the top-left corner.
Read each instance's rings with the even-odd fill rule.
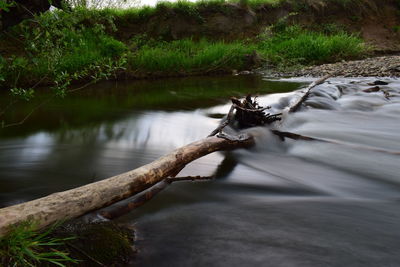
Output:
[[[220,150],[249,147],[251,136],[229,140],[207,137],[191,143],[135,170],[64,192],[0,209],[0,236],[10,226],[26,220],[38,228],[72,219],[133,196],[168,177],[174,177],[186,164]]]

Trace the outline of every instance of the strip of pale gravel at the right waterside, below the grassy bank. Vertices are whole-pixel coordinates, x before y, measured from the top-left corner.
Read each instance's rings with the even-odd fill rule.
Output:
[[[310,66],[295,71],[271,71],[273,77],[322,77],[327,74],[341,77],[400,77],[400,55],[341,61]]]

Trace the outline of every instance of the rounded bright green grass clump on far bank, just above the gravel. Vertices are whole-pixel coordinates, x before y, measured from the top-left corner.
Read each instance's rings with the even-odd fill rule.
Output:
[[[272,33],[258,45],[262,55],[274,63],[291,62],[315,64],[359,57],[367,47],[356,36],[340,32],[326,35],[311,32],[300,26],[289,26],[284,31]]]

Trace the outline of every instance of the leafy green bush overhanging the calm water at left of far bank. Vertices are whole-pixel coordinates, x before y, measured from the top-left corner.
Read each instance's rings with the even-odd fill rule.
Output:
[[[14,35],[23,36],[24,56],[0,61],[4,73],[0,82],[13,88],[13,95],[28,100],[33,91],[19,87],[47,81],[54,83],[57,96],[64,96],[74,80],[97,81],[123,67],[127,47],[107,34],[115,30],[112,16],[75,9],[47,12],[34,22],[35,27],[26,21],[14,28]]]

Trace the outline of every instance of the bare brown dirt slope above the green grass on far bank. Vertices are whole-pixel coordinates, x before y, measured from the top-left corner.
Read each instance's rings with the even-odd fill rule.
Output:
[[[289,17],[329,32],[344,29],[360,33],[378,52],[400,51],[400,4],[397,0],[296,0],[280,4],[215,3],[194,6],[160,5],[141,16],[117,17],[117,38],[147,35],[167,40],[185,37],[244,39],[255,37],[269,25]]]

